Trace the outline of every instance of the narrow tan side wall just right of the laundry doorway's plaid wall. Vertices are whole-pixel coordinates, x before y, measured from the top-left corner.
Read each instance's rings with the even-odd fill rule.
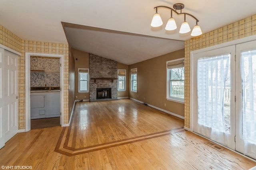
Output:
[[[71,48],[68,50],[68,117],[70,118],[72,108],[75,102],[75,61],[71,53]]]

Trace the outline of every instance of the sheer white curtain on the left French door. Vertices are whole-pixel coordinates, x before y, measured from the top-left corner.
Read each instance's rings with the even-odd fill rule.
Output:
[[[198,59],[197,77],[199,133],[227,145],[224,112],[230,108],[224,108],[224,91],[230,87],[230,54]]]

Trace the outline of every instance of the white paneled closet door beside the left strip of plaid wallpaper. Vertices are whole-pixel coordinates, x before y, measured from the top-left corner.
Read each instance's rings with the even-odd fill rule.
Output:
[[[4,51],[5,142],[18,133],[18,55]]]

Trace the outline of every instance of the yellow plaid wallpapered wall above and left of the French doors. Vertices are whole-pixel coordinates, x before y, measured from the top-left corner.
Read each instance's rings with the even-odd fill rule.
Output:
[[[185,127],[190,127],[190,52],[256,35],[256,15],[185,41]]]

